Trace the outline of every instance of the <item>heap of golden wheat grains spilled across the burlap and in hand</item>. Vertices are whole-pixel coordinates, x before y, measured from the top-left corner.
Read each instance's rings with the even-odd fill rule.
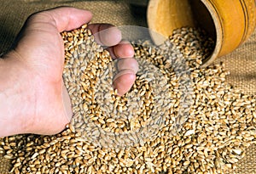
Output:
[[[244,150],[255,143],[255,97],[225,82],[228,72],[223,64],[200,68],[209,48],[193,43],[202,41],[200,33],[193,28],[177,30],[162,48],[150,42],[134,43],[135,58],[148,67],[148,74],[139,71],[131,92],[118,97],[109,85],[114,61],[108,51],[94,41],[86,25],[63,32],[63,78],[72,99],[73,120],[55,136],[0,139],[0,154],[12,160],[11,172],[198,174],[235,168]],[[183,42],[176,42],[177,38]],[[179,57],[185,62],[176,62]],[[172,64],[183,63],[189,73],[180,76]],[[153,69],[159,74],[152,75]],[[188,82],[184,76],[191,80],[190,98],[181,93],[181,84]],[[165,95],[155,88],[160,79]],[[192,100],[189,109],[182,107],[185,99]],[[136,116],[125,113],[129,107]],[[180,109],[183,115],[178,114]],[[109,110],[116,113],[111,115]],[[153,110],[163,115],[152,115]],[[148,131],[147,126],[152,129]]]

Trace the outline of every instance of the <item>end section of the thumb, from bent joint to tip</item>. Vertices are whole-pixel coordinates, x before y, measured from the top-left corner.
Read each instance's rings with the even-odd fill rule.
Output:
[[[59,32],[79,28],[92,18],[90,11],[72,7],[52,8],[39,12],[35,16],[46,24],[52,24]]]

